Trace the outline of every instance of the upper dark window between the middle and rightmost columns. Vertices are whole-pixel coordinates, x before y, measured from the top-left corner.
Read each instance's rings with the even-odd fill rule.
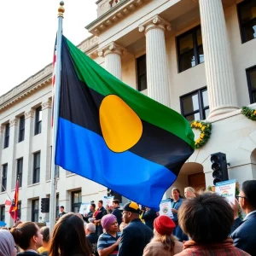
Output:
[[[201,26],[177,37],[177,55],[179,72],[204,62],[204,50],[201,38]]]

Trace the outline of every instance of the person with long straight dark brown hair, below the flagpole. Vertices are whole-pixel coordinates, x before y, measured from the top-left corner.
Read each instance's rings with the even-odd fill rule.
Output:
[[[90,241],[85,236],[84,222],[75,213],[65,214],[55,224],[49,243],[49,256],[91,256]]]

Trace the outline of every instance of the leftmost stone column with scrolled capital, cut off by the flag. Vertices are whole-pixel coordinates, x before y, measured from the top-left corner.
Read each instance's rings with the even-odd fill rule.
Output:
[[[124,50],[118,44],[112,43],[99,51],[99,55],[105,57],[106,70],[119,80],[122,79],[121,55],[123,55]]]

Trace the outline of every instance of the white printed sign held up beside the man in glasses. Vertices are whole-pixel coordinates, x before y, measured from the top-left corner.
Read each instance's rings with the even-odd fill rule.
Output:
[[[230,179],[221,183],[216,183],[215,192],[226,198],[227,201],[235,204],[236,179]]]

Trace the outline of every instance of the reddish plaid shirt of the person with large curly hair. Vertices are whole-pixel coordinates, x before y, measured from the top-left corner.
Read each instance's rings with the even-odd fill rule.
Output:
[[[234,247],[229,237],[225,241],[210,245],[196,244],[195,241],[186,241],[181,253],[175,256],[250,256],[250,254]]]

